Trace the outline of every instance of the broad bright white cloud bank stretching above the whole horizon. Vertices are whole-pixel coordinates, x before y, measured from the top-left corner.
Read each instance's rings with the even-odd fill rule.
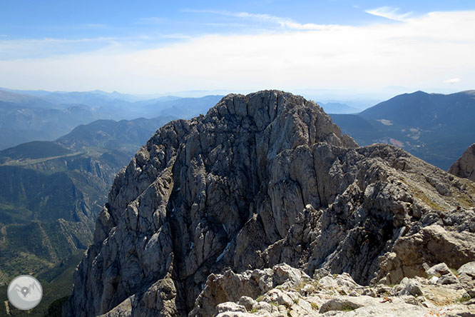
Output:
[[[444,89],[444,80],[457,74],[464,79],[457,89],[474,89],[475,33],[466,31],[471,29],[475,29],[475,11],[451,11],[398,24],[200,36],[158,49],[119,45],[81,54],[0,61],[0,86],[131,93],[270,88],[378,91],[386,86],[417,90]]]

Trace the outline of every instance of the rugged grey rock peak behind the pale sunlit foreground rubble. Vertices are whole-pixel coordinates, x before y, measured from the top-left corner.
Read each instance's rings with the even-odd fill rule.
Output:
[[[163,126],[118,174],[64,315],[130,303],[134,316],[185,316],[210,274],[228,268],[287,263],[309,276],[322,267],[358,283],[400,281],[439,262],[436,254],[409,261],[397,246],[417,244],[409,233],[443,222],[454,206],[474,206],[474,193],[401,149],[359,148],[313,101],[231,94],[206,116]],[[451,230],[466,230],[457,221]],[[441,248],[458,241],[443,230]]]

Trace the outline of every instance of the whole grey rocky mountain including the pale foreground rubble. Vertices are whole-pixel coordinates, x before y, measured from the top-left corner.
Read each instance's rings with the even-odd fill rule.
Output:
[[[230,94],[118,173],[63,316],[472,316],[474,206],[313,101]]]

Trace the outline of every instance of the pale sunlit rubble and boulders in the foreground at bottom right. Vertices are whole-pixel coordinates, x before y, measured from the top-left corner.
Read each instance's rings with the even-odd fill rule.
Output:
[[[431,269],[436,268],[428,271]],[[462,285],[459,278],[444,271],[429,279],[417,276],[394,286],[369,287],[358,285],[347,273],[332,275],[324,269],[310,278],[280,264],[240,274],[211,274],[190,316],[474,316],[474,281],[469,278]],[[228,301],[217,303],[216,298],[223,296]]]

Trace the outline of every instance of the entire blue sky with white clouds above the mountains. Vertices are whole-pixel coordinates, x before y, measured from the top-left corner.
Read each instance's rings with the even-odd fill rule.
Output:
[[[475,89],[473,0],[0,4],[9,89],[329,99]]]

